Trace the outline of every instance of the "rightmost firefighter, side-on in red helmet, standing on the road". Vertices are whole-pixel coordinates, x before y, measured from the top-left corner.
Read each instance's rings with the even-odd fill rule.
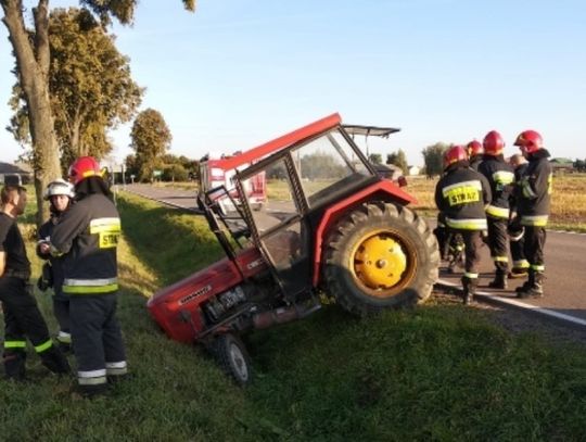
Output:
[[[518,213],[525,228],[525,256],[530,263],[528,279],[517,289],[518,298],[544,295],[546,226],[551,203],[552,172],[549,152],[544,148],[539,132],[524,130],[514,146],[528,160],[528,166],[515,186]]]

